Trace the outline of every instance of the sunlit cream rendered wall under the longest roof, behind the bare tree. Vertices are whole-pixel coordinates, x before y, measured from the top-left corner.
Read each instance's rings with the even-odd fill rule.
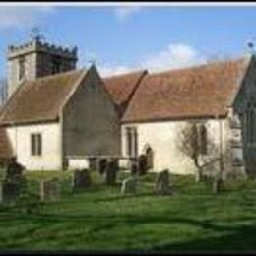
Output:
[[[228,129],[226,120],[205,120],[209,140],[220,149],[220,131],[222,126],[223,147],[226,147]],[[172,173],[195,173],[193,161],[183,155],[177,147],[178,133],[185,121],[162,121],[151,123],[130,123],[122,125],[122,154],[126,156],[125,127],[135,126],[138,132],[138,154],[144,153],[150,145],[154,152],[154,171],[168,168]],[[220,125],[221,124],[221,125]],[[224,150],[223,149],[223,150]]]

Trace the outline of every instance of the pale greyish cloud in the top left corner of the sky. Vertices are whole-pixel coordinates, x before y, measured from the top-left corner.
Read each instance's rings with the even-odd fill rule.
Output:
[[[24,28],[37,25],[40,18],[52,13],[53,7],[1,6],[0,29]]]

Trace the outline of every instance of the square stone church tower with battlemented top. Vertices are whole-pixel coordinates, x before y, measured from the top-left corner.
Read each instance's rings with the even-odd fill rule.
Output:
[[[35,36],[32,41],[8,47],[8,97],[20,83],[76,69],[77,47],[58,47]]]

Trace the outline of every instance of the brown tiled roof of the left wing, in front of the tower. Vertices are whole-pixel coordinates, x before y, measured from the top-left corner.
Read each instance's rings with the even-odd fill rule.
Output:
[[[75,70],[25,81],[4,106],[0,123],[56,120],[65,100],[76,89],[85,74],[85,70]]]

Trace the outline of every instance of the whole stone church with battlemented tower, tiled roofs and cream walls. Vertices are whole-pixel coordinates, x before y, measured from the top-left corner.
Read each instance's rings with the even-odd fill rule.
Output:
[[[253,55],[149,73],[102,78],[77,69],[77,48],[33,39],[8,48],[8,100],[0,112],[0,158],[28,170],[88,167],[116,158],[129,167],[194,173],[178,147],[188,123],[200,134],[200,160],[217,156],[225,173],[256,173],[256,62]],[[215,145],[215,150],[211,150]]]

